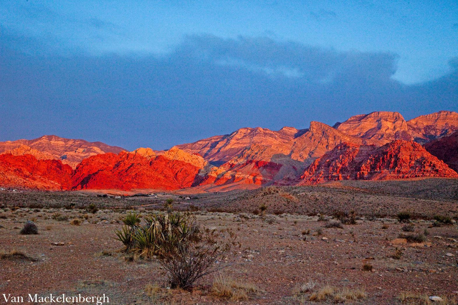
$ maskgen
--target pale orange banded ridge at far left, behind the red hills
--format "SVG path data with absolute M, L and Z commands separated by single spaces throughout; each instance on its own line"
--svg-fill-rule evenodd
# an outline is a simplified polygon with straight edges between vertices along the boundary
M 55 135 L 44 135 L 33 140 L 0 142 L 0 154 L 31 154 L 38 159 L 57 159 L 75 168 L 84 158 L 107 152 L 119 153 L 121 147 L 110 146 L 102 142 L 88 142 L 81 139 L 65 139 Z

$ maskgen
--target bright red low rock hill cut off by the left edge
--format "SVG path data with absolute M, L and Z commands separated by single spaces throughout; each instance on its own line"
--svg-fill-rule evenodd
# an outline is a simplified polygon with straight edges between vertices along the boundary
M 65 190 L 70 188 L 71 167 L 60 160 L 37 160 L 33 155 L 0 155 L 0 186 Z

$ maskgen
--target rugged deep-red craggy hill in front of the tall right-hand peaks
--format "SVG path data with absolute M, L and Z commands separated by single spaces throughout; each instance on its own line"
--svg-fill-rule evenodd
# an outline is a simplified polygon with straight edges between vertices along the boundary
M 457 178 L 458 174 L 416 142 L 396 140 L 379 148 L 343 143 L 316 159 L 300 184 L 413 177 Z

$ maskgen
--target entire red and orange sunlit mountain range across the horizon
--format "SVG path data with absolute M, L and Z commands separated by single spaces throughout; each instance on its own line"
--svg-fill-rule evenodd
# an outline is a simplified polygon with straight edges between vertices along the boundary
M 355 115 L 332 127 L 240 128 L 169 150 L 45 135 L 0 142 L 0 186 L 225 191 L 348 179 L 458 178 L 458 113 Z

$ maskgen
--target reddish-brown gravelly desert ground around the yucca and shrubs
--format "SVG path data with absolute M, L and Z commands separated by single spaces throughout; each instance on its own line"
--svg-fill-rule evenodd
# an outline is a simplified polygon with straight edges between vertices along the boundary
M 403 202 L 409 201 L 415 207 L 415 203 L 421 201 L 429 207 L 426 214 L 453 214 L 457 209 L 453 192 L 451 198 L 433 200 L 418 193 L 389 194 L 381 193 L 380 189 L 376 193 L 367 193 L 374 191 L 370 187 L 343 187 L 321 187 L 313 192 L 337 201 L 333 192 L 349 192 L 348 187 L 352 187 L 351 195 L 346 193 L 345 196 L 358 198 L 360 211 L 375 209 L 376 197 L 380 200 L 379 205 L 403 198 Z M 326 193 L 328 189 L 331 190 Z M 305 195 L 299 195 L 304 192 Z M 357 223 L 343 225 L 343 228 L 326 228 L 331 216 L 318 221 L 317 215 L 279 214 L 277 210 L 278 215 L 275 215 L 271 214 L 274 208 L 270 206 L 265 220 L 251 213 L 260 204 L 259 198 L 316 195 L 310 192 L 309 189 L 280 188 L 272 193 L 272 189 L 262 189 L 192 199 L 179 194 L 119 199 L 68 192 L 0 192 L 0 250 L 8 253 L 16 249 L 26 256 L 0 259 L 0 295 L 105 294 L 109 297 L 109 304 L 120 305 L 341 302 L 335 295 L 325 296 L 324 300 L 311 300 L 313 293 L 330 285 L 334 289 L 349 291 L 361 292 L 364 289 L 362 298 L 344 301 L 350 304 L 428 304 L 423 301 L 424 296 L 441 296 L 444 302 L 439 304 L 455 304 L 454 299 L 458 298 L 456 222 L 454 225 L 433 226 L 430 219 L 414 219 L 413 233 L 426 234 L 425 242 L 415 244 L 398 238 L 400 234 L 410 232 L 403 232 L 403 224 L 393 217 L 368 217 L 364 216 L 365 213 L 358 213 L 358 209 Z M 224 202 L 218 198 L 222 196 L 225 196 L 224 200 L 244 198 L 252 202 L 245 212 L 208 212 L 204 209 L 204 200 L 212 207 L 214 203 Z M 126 261 L 122 254 L 116 253 L 121 244 L 114 239 L 114 230 L 120 229 L 119 219 L 126 213 L 125 209 L 136 209 L 146 216 L 168 197 L 176 199 L 175 208 L 189 209 L 191 204 L 196 205 L 199 210 L 193 213 L 200 225 L 235 232 L 240 245 L 232 249 L 228 257 L 230 265 L 223 273 L 239 283 L 257 287 L 256 292 L 248 294 L 248 300 L 214 295 L 215 274 L 204 277 L 192 291 L 167 289 L 166 274 L 157 261 Z M 294 198 L 286 199 L 294 203 Z M 431 206 L 431 202 L 436 202 L 437 206 Z M 71 203 L 75 207 L 70 206 Z M 88 203 L 95 203 L 100 209 L 90 213 L 83 209 Z M 351 205 L 357 207 L 356 202 Z M 393 208 L 395 210 L 398 206 Z M 56 213 L 61 217 L 54 216 L 53 219 Z M 81 225 L 71 225 L 72 219 L 81 219 Z M 26 220 L 36 223 L 38 235 L 19 234 Z M 366 269 L 371 265 L 372 271 L 363 270 L 363 265 Z M 297 288 L 309 281 L 315 286 L 310 291 L 298 292 Z M 157 284 L 158 287 L 152 293 L 151 285 L 146 289 L 148 284 Z M 4 303 L 1 299 L 0 304 Z

